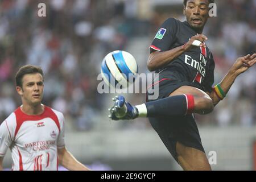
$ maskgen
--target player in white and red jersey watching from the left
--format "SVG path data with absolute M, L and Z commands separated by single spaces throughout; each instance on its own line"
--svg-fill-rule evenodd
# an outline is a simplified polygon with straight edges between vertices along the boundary
M 65 147 L 63 114 L 42 104 L 43 82 L 39 67 L 26 65 L 16 74 L 22 106 L 0 125 L 0 170 L 8 148 L 15 171 L 55 171 L 59 163 L 69 170 L 89 170 Z

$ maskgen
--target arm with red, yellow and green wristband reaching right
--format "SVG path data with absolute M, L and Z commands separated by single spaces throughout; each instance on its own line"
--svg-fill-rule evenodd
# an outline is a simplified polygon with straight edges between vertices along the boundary
M 250 67 L 256 63 L 256 53 L 253 55 L 246 55 L 239 57 L 236 62 L 230 68 L 229 72 L 222 79 L 220 84 L 214 86 L 211 93 L 208 93 L 213 100 L 214 106 L 218 104 L 229 92 L 229 89 L 233 85 L 236 78 L 242 73 L 246 72 Z

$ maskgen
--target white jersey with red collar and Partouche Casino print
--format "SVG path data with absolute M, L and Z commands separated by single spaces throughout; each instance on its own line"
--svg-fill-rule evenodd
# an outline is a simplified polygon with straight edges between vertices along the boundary
M 0 125 L 0 156 L 10 148 L 15 171 L 57 170 L 57 148 L 64 146 L 64 116 L 47 106 L 40 115 L 19 107 Z

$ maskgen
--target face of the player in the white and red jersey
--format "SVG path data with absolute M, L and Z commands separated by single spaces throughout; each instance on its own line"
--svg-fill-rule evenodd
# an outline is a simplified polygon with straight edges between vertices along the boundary
M 40 73 L 24 75 L 22 88 L 16 87 L 17 92 L 22 96 L 23 104 L 38 105 L 43 99 L 43 76 Z

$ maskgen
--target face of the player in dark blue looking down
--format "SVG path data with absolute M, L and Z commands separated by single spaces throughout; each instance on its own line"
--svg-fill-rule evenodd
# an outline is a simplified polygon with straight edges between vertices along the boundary
M 203 31 L 204 25 L 209 18 L 208 0 L 188 0 L 184 7 L 187 22 L 197 31 Z

